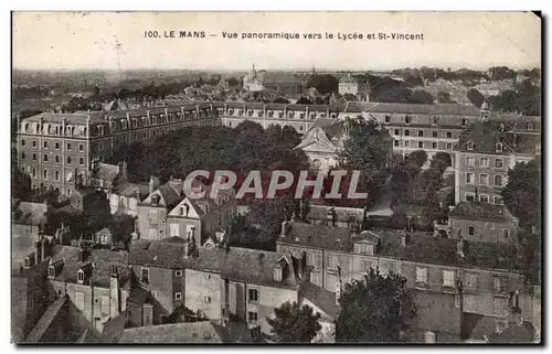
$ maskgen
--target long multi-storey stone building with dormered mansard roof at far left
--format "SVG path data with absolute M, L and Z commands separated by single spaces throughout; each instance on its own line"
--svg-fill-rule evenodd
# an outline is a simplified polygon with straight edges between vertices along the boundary
M 106 160 L 120 146 L 148 143 L 185 126 L 217 125 L 213 104 L 89 114 L 52 114 L 18 125 L 18 168 L 32 187 L 53 187 L 71 196 L 92 183 L 93 162 Z

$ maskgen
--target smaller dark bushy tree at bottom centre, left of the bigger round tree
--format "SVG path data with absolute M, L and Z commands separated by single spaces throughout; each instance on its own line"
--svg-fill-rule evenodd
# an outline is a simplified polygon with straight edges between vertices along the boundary
M 304 304 L 289 301 L 274 309 L 275 318 L 267 318 L 266 321 L 272 325 L 272 331 L 276 340 L 280 343 L 310 343 L 320 331 L 318 323 L 320 313 Z

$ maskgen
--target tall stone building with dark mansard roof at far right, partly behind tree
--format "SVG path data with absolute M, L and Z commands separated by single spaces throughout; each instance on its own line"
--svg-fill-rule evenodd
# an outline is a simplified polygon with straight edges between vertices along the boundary
M 540 118 L 499 116 L 473 125 L 455 151 L 455 200 L 502 204 L 508 170 L 541 155 Z

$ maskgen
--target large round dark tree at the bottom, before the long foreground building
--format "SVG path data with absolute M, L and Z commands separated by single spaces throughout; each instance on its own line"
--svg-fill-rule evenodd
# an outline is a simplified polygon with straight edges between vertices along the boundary
M 406 278 L 373 269 L 343 286 L 339 304 L 337 342 L 399 342 L 416 317 Z

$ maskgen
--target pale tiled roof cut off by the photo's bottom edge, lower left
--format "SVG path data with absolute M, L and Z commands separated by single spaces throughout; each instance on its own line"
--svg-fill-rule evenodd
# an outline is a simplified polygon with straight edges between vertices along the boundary
M 223 343 L 220 333 L 209 321 L 160 324 L 126 329 L 118 339 L 119 343 Z

